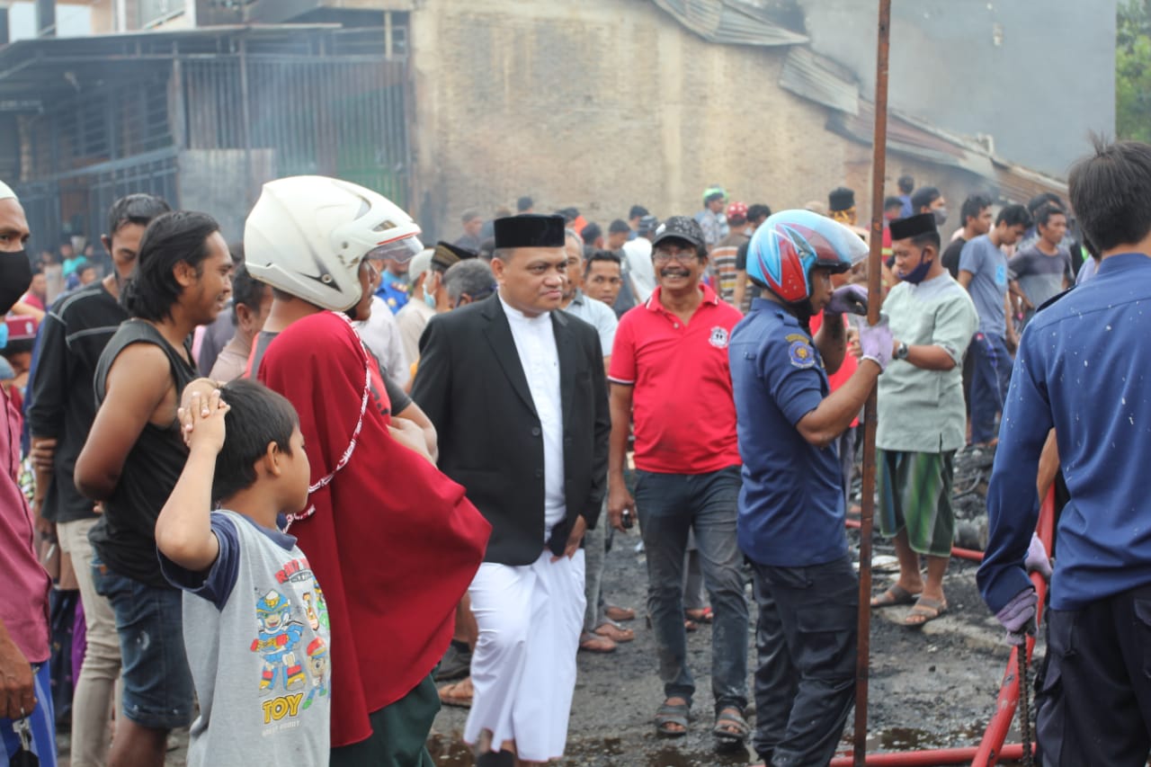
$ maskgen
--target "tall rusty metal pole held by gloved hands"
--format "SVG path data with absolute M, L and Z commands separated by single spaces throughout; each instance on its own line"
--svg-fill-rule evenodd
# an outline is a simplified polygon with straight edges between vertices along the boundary
M 879 321 L 881 250 L 883 248 L 883 182 L 887 160 L 887 53 L 891 44 L 891 0 L 879 0 L 879 39 L 875 69 L 875 138 L 871 161 L 871 252 L 868 255 L 868 325 Z M 860 613 L 855 658 L 855 766 L 867 762 L 867 693 L 871 655 L 871 523 L 875 516 L 875 388 L 863 408 L 863 496 L 860 499 Z

